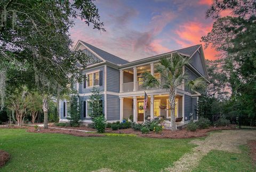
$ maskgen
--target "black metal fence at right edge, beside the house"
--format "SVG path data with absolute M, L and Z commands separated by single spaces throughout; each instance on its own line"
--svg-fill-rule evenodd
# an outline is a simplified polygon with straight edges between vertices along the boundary
M 249 118 L 244 115 L 215 114 L 211 121 L 216 127 L 256 129 L 256 118 Z

